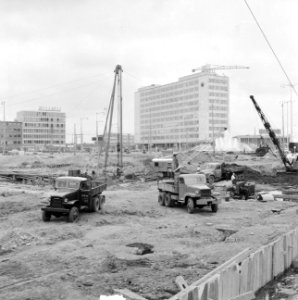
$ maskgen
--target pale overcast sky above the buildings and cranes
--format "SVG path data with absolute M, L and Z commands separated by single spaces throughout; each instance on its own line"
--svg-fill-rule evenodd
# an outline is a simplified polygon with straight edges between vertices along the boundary
M 298 1 L 247 2 L 298 83 Z M 281 87 L 286 77 L 242 0 L 0 0 L 0 53 L 6 120 L 20 110 L 61 107 L 68 141 L 81 118 L 84 140 L 95 135 L 96 112 L 108 106 L 117 64 L 125 132 L 134 132 L 139 87 L 176 81 L 204 64 L 250 67 L 218 71 L 230 77 L 232 134 L 263 128 L 249 95 L 279 128 L 281 101 L 290 99 L 289 88 Z

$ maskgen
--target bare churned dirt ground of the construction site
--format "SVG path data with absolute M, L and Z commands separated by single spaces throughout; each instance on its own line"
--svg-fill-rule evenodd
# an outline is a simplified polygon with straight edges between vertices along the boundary
M 58 154 L 1 157 L 0 164 L 5 170 L 42 173 L 50 172 L 45 167 L 50 160 L 69 161 L 70 168 L 96 166 L 96 157 Z M 297 188 L 294 175 L 268 176 L 278 165 L 274 157 L 238 160 L 263 170 L 249 173 L 258 191 Z M 125 166 L 145 174 L 148 161 L 146 155 L 131 154 Z M 34 162 L 39 167 L 33 168 Z M 51 193 L 49 185 L 0 182 L 0 299 L 95 300 L 121 288 L 150 300 L 167 299 L 178 292 L 176 276 L 190 284 L 244 248 L 256 249 L 297 226 L 296 203 L 225 201 L 228 184 L 215 185 L 222 199 L 217 213 L 204 208 L 188 214 L 184 207 L 158 205 L 156 181 L 114 181 L 104 192 L 101 212 L 82 213 L 78 223 L 62 217 L 44 223 L 40 208 Z M 140 255 L 144 244 L 153 247 L 152 253 Z

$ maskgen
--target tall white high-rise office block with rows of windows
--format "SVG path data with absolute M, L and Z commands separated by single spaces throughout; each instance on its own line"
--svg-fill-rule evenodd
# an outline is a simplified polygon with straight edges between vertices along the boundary
M 229 127 L 229 78 L 203 71 L 135 93 L 135 143 L 173 147 L 212 142 Z

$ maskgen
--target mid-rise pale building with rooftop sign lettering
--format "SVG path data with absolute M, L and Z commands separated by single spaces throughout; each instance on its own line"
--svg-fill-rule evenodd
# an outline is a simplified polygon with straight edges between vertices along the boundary
M 24 149 L 44 149 L 65 145 L 65 113 L 59 108 L 40 107 L 38 111 L 20 111 Z

